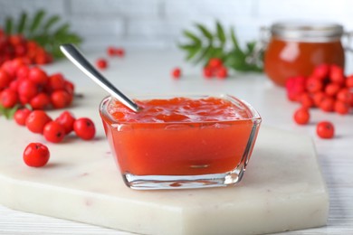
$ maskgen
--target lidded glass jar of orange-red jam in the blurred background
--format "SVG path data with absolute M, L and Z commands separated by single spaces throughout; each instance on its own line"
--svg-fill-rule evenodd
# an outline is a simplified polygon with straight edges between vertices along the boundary
M 279 86 L 290 77 L 309 76 L 322 63 L 344 67 L 344 31 L 340 24 L 276 23 L 270 33 L 264 71 Z

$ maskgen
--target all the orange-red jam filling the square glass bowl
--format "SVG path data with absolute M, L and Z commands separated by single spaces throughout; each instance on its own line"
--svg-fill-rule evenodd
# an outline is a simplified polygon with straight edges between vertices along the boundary
M 217 174 L 241 162 L 253 127 L 242 103 L 220 98 L 136 102 L 142 108 L 138 113 L 111 101 L 106 107 L 111 117 L 101 115 L 122 174 Z

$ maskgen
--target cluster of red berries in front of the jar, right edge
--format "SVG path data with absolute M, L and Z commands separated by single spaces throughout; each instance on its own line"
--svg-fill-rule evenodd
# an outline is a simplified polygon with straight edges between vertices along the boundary
M 334 64 L 317 66 L 309 77 L 290 78 L 286 89 L 288 99 L 301 104 L 293 115 L 300 125 L 309 123 L 310 108 L 347 115 L 353 107 L 353 75 L 346 77 L 343 69 Z M 319 122 L 316 131 L 321 138 L 334 136 L 334 126 L 329 121 Z

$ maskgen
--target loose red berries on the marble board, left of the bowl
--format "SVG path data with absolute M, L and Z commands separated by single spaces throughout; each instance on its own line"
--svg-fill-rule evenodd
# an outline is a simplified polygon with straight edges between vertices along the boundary
M 91 140 L 96 133 L 94 123 L 90 118 L 74 118 L 69 111 L 52 120 L 43 110 L 21 108 L 14 113 L 14 121 L 27 127 L 31 132 L 41 134 L 48 142 L 60 143 L 72 131 L 83 140 Z M 41 143 L 31 143 L 24 149 L 24 163 L 40 167 L 49 160 L 48 147 Z

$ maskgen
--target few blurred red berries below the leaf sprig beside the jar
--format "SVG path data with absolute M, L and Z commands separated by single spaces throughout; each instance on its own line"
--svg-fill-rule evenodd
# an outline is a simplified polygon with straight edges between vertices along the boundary
M 219 58 L 211 58 L 203 69 L 205 79 L 216 77 L 217 79 L 224 80 L 228 77 L 228 70 L 224 67 L 224 63 Z M 181 77 L 181 69 L 176 67 L 172 70 L 171 76 L 173 79 L 178 80 Z

